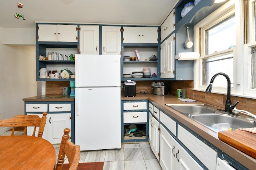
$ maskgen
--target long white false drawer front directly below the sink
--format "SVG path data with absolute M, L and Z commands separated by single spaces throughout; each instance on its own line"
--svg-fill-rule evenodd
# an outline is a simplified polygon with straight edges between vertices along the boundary
M 215 170 L 218 153 L 178 125 L 178 139 L 208 168 Z

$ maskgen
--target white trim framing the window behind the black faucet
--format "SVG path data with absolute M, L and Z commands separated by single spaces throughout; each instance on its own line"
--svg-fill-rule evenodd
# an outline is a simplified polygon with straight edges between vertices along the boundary
M 234 82 L 240 85 L 234 85 L 234 88 L 231 89 L 232 96 L 242 96 L 244 97 L 244 80 L 242 77 L 244 77 L 244 52 L 243 46 L 244 46 L 244 31 L 243 31 L 243 9 L 242 9 L 242 2 L 237 0 L 229 0 L 226 4 L 221 6 L 219 9 L 214 11 L 212 13 L 212 17 L 206 17 L 204 20 L 200 21 L 198 24 L 194 25 L 194 51 L 199 52 L 199 28 L 200 27 L 206 27 L 209 23 L 212 23 L 216 16 L 224 16 L 226 13 L 234 12 L 232 11 L 232 8 L 235 8 L 236 13 L 236 35 L 241 35 L 236 37 L 236 48 L 234 52 Z M 205 49 L 202 49 L 204 51 Z M 201 55 L 204 54 L 201 51 Z M 223 51 L 220 51 L 221 53 Z M 202 56 L 203 57 L 203 56 Z M 201 85 L 201 68 L 202 68 L 202 60 L 201 57 L 198 60 L 194 61 L 194 89 L 198 91 L 205 91 L 207 86 Z M 218 94 L 226 94 L 227 88 L 212 88 L 212 92 L 218 93 Z

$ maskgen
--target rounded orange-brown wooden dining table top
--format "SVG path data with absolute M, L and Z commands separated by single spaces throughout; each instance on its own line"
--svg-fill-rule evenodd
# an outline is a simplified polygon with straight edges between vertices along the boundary
M 0 136 L 1 170 L 53 170 L 54 146 L 32 136 Z

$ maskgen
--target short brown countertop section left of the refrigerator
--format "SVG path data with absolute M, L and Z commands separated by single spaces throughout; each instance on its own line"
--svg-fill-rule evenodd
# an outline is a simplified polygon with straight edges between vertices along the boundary
M 22 99 L 24 102 L 74 102 L 75 97 L 47 94 Z

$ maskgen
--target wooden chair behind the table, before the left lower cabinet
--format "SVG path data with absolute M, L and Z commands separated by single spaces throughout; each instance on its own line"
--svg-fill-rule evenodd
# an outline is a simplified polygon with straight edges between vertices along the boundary
M 26 135 L 27 127 L 34 127 L 32 136 L 35 136 L 36 127 L 39 127 L 37 136 L 42 138 L 46 122 L 46 115 L 46 112 L 43 113 L 42 118 L 40 118 L 38 115 L 16 115 L 10 119 L 0 120 L 0 127 L 12 127 L 11 135 L 14 135 L 15 127 L 24 127 L 23 135 Z

